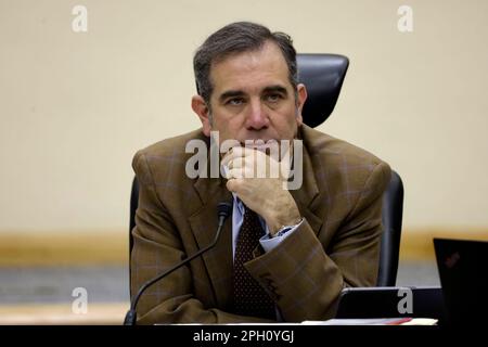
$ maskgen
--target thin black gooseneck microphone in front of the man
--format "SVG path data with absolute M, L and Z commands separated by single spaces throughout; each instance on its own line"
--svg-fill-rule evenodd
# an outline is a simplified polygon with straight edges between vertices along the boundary
M 159 281 L 159 280 L 164 279 L 165 277 L 167 277 L 168 274 L 170 274 L 172 271 L 181 268 L 187 262 L 190 262 L 197 256 L 200 256 L 200 255 L 204 254 L 205 252 L 207 252 L 208 249 L 213 248 L 217 244 L 217 241 L 219 240 L 219 236 L 220 236 L 220 232 L 222 231 L 223 222 L 226 221 L 227 217 L 229 217 L 231 210 L 232 210 L 231 203 L 219 203 L 217 205 L 217 217 L 219 219 L 219 226 L 217 227 L 217 232 L 215 234 L 214 241 L 208 246 L 200 249 L 197 253 L 195 253 L 191 257 L 183 259 L 182 261 L 180 261 L 172 268 L 166 270 L 165 272 L 160 273 L 159 275 L 155 277 L 154 279 L 145 282 L 139 290 L 138 294 L 133 297 L 133 300 L 131 300 L 130 309 L 129 309 L 129 311 L 127 311 L 126 318 L 124 320 L 124 325 L 136 325 L 137 316 L 138 316 L 136 308 L 138 306 L 139 298 L 145 292 L 145 290 L 147 290 L 151 285 L 153 285 L 157 281 Z

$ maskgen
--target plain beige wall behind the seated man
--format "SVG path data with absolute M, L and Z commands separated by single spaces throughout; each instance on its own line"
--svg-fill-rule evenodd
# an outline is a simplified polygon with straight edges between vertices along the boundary
M 72 9 L 88 8 L 88 33 Z M 413 33 L 397 9 L 413 9 Z M 191 60 L 251 20 L 350 59 L 321 130 L 406 184 L 406 228 L 488 229 L 487 1 L 0 0 L 0 232 L 117 230 L 133 153 L 198 126 Z

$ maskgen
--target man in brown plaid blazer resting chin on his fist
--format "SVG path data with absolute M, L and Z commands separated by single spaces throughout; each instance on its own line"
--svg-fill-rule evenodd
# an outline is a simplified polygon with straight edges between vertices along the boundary
M 194 68 L 198 95 L 192 108 L 202 129 L 153 144 L 133 159 L 140 195 L 132 293 L 210 244 L 218 203 L 233 202 L 232 218 L 215 248 L 143 294 L 138 323 L 332 318 L 345 286 L 375 284 L 389 167 L 301 123 L 307 91 L 297 83 L 288 36 L 253 23 L 230 24 L 197 50 Z M 240 144 L 222 154 L 228 176 L 205 175 L 207 168 L 198 168 L 200 177 L 189 175 L 188 143 L 208 144 L 216 133 L 217 144 Z M 248 175 L 258 163 L 288 163 L 246 141 L 294 139 L 303 141 L 303 151 L 290 151 L 285 172 L 298 172 L 299 157 L 298 189 L 283 189 L 286 175 Z

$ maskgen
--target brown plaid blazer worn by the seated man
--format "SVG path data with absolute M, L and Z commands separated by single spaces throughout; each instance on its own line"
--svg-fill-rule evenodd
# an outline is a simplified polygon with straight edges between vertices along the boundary
M 347 142 L 307 126 L 304 182 L 291 191 L 305 221 L 269 253 L 246 264 L 288 322 L 325 320 L 345 286 L 374 285 L 381 208 L 389 182 L 387 164 Z M 223 179 L 185 175 L 191 139 L 201 130 L 139 151 L 133 169 L 140 184 L 131 254 L 131 290 L 208 245 L 217 229 L 217 204 L 232 201 Z M 139 324 L 265 321 L 230 312 L 232 219 L 216 247 L 150 287 L 138 306 Z

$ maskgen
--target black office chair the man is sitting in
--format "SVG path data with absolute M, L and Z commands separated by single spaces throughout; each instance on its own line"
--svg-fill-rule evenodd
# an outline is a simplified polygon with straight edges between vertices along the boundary
M 298 79 L 307 86 L 308 99 L 304 105 L 304 123 L 317 127 L 329 118 L 335 107 L 346 76 L 349 60 L 336 54 L 297 54 Z M 136 226 L 134 215 L 138 207 L 139 187 L 132 181 L 130 194 L 129 247 L 132 250 L 132 234 Z M 400 248 L 401 218 L 403 210 L 403 185 L 397 172 L 383 196 L 383 226 L 380 271 L 377 286 L 394 286 L 397 279 L 398 255 Z

